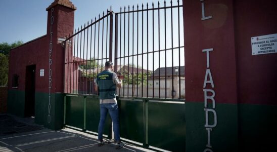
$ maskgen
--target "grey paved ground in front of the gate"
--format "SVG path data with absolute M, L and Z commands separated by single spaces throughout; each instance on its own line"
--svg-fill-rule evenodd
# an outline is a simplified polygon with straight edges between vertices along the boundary
M 94 135 L 68 128 L 54 131 L 35 125 L 30 119 L 20 119 L 10 115 L 0 115 L 0 122 L 0 152 L 152 151 L 127 144 L 121 149 L 116 149 L 114 143 L 99 147 L 97 137 Z

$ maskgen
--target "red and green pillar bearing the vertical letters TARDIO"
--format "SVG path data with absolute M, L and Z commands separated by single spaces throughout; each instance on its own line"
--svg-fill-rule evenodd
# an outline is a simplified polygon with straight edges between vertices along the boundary
M 233 0 L 183 1 L 186 151 L 237 151 Z

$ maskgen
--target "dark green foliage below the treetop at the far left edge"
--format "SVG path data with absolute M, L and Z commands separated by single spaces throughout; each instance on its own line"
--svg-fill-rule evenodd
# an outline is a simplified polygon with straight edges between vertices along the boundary
M 0 53 L 0 86 L 8 84 L 9 60 L 8 57 Z

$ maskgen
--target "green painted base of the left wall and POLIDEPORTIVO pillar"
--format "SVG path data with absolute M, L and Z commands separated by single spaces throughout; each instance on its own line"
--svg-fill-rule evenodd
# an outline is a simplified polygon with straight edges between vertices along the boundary
M 50 122 L 48 122 L 49 93 L 35 93 L 35 123 L 58 130 L 63 128 L 64 94 L 52 93 L 50 102 Z M 25 92 L 8 91 L 8 113 L 25 117 Z

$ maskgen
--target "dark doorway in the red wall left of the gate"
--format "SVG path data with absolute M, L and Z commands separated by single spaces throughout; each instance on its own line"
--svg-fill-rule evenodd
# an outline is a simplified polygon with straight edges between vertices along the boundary
M 35 112 L 35 65 L 26 66 L 25 117 L 34 117 Z

